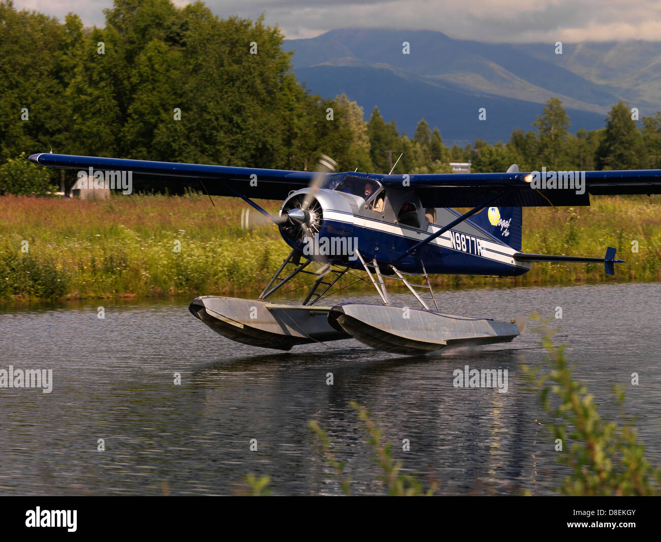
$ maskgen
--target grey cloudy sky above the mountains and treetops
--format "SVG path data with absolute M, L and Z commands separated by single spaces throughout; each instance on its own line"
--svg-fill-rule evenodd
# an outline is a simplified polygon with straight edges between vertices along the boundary
M 184 0 L 175 0 L 185 5 Z M 288 38 L 311 38 L 332 28 L 440 30 L 458 39 L 488 42 L 661 40 L 659 0 L 206 0 L 219 17 L 277 24 Z M 103 26 L 112 0 L 15 0 L 63 19 L 77 13 Z

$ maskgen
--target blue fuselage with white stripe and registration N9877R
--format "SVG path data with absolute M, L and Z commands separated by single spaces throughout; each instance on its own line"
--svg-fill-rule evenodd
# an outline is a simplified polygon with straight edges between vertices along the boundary
M 362 269 L 355 252 L 358 249 L 364 261 L 376 261 L 381 272 L 389 273 L 389 265 L 408 249 L 460 216 L 452 208 L 422 208 L 414 191 L 389 188 L 386 193 L 379 183 L 371 183 L 375 189 L 369 195 L 357 195 L 356 190 L 348 193 L 342 191 L 342 186 L 313 191 L 312 227 L 297 237 L 292 228 L 281 226 L 282 237 L 310 259 Z M 292 193 L 280 214 L 288 212 L 311 190 Z M 301 237 L 305 237 L 304 242 Z M 398 261 L 396 267 L 409 273 L 522 275 L 531 264 L 515 261 L 513 255 L 517 252 L 465 220 Z

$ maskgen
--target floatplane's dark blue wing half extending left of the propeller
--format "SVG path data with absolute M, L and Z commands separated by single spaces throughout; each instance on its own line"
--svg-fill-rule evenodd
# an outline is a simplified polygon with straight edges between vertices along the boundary
M 132 171 L 134 179 L 145 177 L 178 177 L 182 181 L 202 181 L 211 195 L 235 196 L 233 190 L 251 198 L 286 199 L 290 191 L 310 184 L 314 171 L 288 171 L 286 169 L 258 169 L 225 165 L 157 162 L 122 158 L 98 158 L 67 154 L 33 154 L 30 161 L 78 171 Z M 256 181 L 251 183 L 251 181 Z

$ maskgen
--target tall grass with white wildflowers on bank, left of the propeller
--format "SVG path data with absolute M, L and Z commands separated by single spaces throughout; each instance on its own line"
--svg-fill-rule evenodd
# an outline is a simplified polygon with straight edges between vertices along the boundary
M 241 230 L 235 201 L 215 203 L 195 194 L 0 198 L 0 297 L 256 291 L 282 263 L 286 246 L 276 228 Z M 58 281 L 59 289 L 48 287 Z

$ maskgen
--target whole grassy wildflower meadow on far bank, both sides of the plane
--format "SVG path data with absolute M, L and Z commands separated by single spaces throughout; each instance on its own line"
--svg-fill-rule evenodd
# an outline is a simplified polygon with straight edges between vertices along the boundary
M 536 263 L 522 277 L 441 275 L 434 278 L 436 285 L 660 280 L 661 197 L 592 201 L 590 207 L 558 212 L 526 208 L 523 248 L 600 257 L 606 246 L 614 246 L 627 261 L 616 267 L 614 279 L 604 275 L 600 263 Z M 108 201 L 0 197 L 0 300 L 255 296 L 282 263 L 288 246 L 275 226 L 241 230 L 241 210 L 247 205 L 239 199 L 214 202 L 212 206 L 200 194 L 116 195 Z M 279 206 L 272 201 L 260 204 L 271 212 Z M 174 250 L 177 241 L 180 252 Z M 639 244 L 637 253 L 631 251 L 633 241 Z M 348 277 L 342 285 L 355 280 Z

